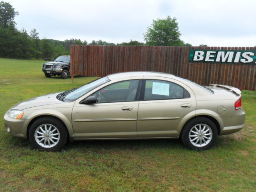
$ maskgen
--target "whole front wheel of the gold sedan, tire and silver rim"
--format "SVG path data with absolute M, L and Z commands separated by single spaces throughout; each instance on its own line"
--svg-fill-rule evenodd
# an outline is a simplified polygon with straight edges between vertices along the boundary
M 33 148 L 45 151 L 60 150 L 67 141 L 67 130 L 55 118 L 40 118 L 29 130 L 29 140 Z

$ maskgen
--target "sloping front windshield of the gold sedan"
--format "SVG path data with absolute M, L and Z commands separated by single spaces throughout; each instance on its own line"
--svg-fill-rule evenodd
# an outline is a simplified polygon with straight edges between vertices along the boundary
M 91 90 L 94 90 L 95 88 L 97 88 L 98 86 L 101 86 L 103 84 L 105 84 L 106 82 L 109 82 L 110 80 L 108 79 L 108 77 L 103 77 L 97 80 L 94 80 L 78 89 L 73 90 L 72 92 L 69 92 L 65 98 L 64 98 L 64 102 L 72 102 L 74 100 L 77 100 L 78 98 L 80 98 L 81 96 L 83 96 L 84 94 L 90 92 Z

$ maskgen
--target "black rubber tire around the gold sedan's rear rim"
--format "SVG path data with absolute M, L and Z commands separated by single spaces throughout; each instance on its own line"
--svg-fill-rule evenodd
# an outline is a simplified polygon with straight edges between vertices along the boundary
M 212 132 L 210 132 L 210 130 L 209 130 L 206 134 L 212 134 L 211 139 L 204 138 L 204 136 L 202 136 L 202 134 L 198 134 L 198 137 L 197 137 L 196 134 L 194 134 L 193 132 L 191 132 L 192 137 L 189 136 L 190 130 L 195 130 L 194 126 L 197 126 L 196 128 L 198 129 L 199 124 L 206 125 L 206 128 L 207 128 L 206 130 L 208 130 L 208 128 L 210 128 L 210 130 Z M 201 125 L 201 128 L 204 127 L 203 125 Z M 182 139 L 182 142 L 184 143 L 184 145 L 189 149 L 207 150 L 207 149 L 212 148 L 212 146 L 214 146 L 217 136 L 218 136 L 218 130 L 217 130 L 214 122 L 212 122 L 210 119 L 205 118 L 205 117 L 198 117 L 198 118 L 194 118 L 194 119 L 190 120 L 188 123 L 186 123 L 186 125 L 182 129 L 181 139 Z M 199 138 L 199 141 L 198 141 L 199 144 L 195 144 L 195 142 L 197 141 L 196 137 Z M 206 137 L 210 138 L 209 135 L 207 135 Z M 204 138 L 204 140 L 206 141 L 204 143 L 204 141 L 201 139 L 202 143 L 203 143 L 202 146 L 198 146 L 198 145 L 200 145 L 200 138 Z M 195 139 L 195 141 L 192 141 L 193 139 Z

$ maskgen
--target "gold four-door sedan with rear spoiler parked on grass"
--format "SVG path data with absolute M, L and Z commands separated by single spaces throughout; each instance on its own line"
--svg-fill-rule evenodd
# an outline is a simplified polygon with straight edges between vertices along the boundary
M 60 150 L 67 139 L 181 138 L 195 150 L 244 127 L 241 92 L 172 74 L 111 74 L 80 88 L 31 98 L 4 115 L 6 130 L 33 148 Z

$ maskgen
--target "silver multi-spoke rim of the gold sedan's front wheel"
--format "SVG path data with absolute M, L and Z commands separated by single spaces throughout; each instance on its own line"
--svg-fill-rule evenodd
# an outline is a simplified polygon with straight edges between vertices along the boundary
M 44 148 L 51 148 L 60 141 L 59 130 L 51 124 L 42 124 L 35 131 L 35 140 L 38 145 Z

